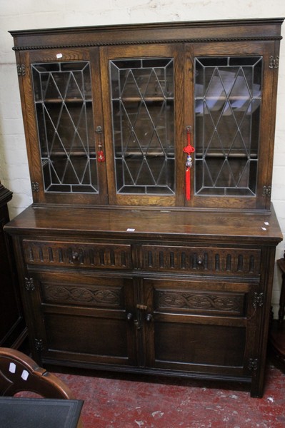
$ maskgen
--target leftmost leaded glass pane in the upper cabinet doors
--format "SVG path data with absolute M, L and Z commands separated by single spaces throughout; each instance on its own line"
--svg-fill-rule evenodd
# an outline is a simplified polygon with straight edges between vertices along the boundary
M 31 64 L 46 192 L 98 193 L 89 63 Z

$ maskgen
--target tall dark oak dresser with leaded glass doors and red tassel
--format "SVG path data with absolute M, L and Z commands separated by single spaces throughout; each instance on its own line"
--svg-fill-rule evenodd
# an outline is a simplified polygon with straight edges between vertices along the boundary
M 11 31 L 41 364 L 264 388 L 283 19 Z

